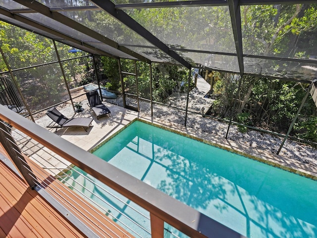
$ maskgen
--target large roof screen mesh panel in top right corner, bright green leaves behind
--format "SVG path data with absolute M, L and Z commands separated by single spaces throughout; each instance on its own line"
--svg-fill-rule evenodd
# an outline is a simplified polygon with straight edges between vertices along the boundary
M 252 5 L 240 9 L 244 54 L 316 57 L 313 4 Z

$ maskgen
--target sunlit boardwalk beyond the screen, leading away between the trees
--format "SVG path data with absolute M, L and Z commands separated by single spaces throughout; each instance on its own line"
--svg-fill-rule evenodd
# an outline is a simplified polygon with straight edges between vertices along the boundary
M 189 112 L 202 114 L 202 108 L 204 107 L 206 113 L 206 111 L 211 107 L 211 104 L 214 101 L 210 98 L 204 98 L 204 96 L 209 92 L 209 90 L 210 84 L 206 82 L 206 80 L 202 76 L 198 75 L 197 86 L 189 92 Z M 167 98 L 167 100 L 168 105 L 185 110 L 187 103 L 187 93 L 174 92 Z

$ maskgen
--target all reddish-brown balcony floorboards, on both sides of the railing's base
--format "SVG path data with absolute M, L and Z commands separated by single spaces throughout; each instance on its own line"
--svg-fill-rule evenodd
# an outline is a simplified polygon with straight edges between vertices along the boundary
M 0 144 L 0 238 L 83 238 L 86 237 L 72 225 L 36 190 L 32 190 L 15 172 L 4 164 L 7 157 Z M 4 160 L 3 160 L 4 159 Z M 44 173 L 44 170 L 25 157 L 32 170 L 38 171 L 37 178 L 47 177 L 46 189 L 60 196 L 61 204 L 73 207 L 71 213 L 82 214 L 77 218 L 99 237 L 133 238 L 131 234 L 115 224 L 104 213 L 92 208 L 79 195 L 72 192 L 58 179 Z M 9 159 L 8 159 L 9 160 Z M 59 193 L 63 194 L 61 196 Z

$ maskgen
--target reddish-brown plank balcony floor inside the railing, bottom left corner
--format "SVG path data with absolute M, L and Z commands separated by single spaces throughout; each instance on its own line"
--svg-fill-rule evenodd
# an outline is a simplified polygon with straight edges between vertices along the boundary
M 0 162 L 0 237 L 85 237 Z

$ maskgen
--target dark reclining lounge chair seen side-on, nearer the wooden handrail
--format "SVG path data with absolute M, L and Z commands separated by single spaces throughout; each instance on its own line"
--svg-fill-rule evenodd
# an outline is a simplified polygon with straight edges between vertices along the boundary
M 51 122 L 47 127 L 50 128 L 62 128 L 69 126 L 80 126 L 83 127 L 86 131 L 93 121 L 92 118 L 71 118 L 68 119 L 64 115 L 62 115 L 55 107 L 51 108 L 46 112 L 53 122 Z M 87 129 L 86 129 L 87 128 Z

